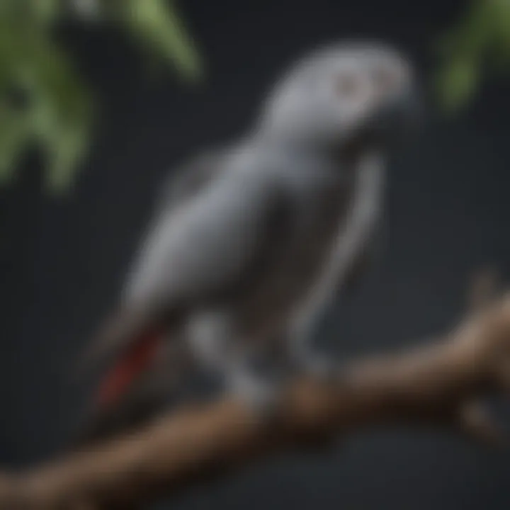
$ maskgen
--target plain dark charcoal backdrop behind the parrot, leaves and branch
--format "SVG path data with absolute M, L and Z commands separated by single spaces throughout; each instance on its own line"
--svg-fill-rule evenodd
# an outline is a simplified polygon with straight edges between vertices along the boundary
M 122 35 L 62 34 L 101 103 L 96 146 L 75 193 L 40 193 L 29 159 L 1 191 L 0 463 L 25 465 L 61 448 L 86 388 L 71 361 L 115 299 L 166 172 L 197 147 L 250 123 L 280 69 L 351 36 L 382 38 L 427 74 L 432 45 L 464 1 L 181 2 L 203 47 L 207 80 L 147 77 Z M 453 120 L 429 111 L 420 139 L 392 163 L 378 263 L 322 339 L 345 353 L 402 346 L 448 327 L 467 279 L 485 263 L 509 272 L 508 81 L 485 84 Z M 174 508 L 505 509 L 509 453 L 427 431 L 371 431 L 331 453 L 293 455 L 188 491 Z

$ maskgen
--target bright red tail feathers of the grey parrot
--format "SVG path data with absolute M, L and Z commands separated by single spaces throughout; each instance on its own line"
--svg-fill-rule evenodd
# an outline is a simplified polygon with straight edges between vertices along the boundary
M 147 331 L 123 354 L 103 378 L 97 392 L 99 407 L 108 407 L 118 400 L 131 383 L 154 361 L 161 341 L 159 331 Z

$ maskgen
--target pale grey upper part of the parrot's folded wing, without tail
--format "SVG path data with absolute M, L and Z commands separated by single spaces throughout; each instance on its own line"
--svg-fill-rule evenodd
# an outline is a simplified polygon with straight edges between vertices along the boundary
M 232 158 L 231 167 L 208 186 L 157 218 L 125 289 L 125 304 L 188 305 L 234 285 L 249 271 L 267 248 L 265 235 L 283 191 L 273 174 L 250 163 L 243 167 L 241 158 Z

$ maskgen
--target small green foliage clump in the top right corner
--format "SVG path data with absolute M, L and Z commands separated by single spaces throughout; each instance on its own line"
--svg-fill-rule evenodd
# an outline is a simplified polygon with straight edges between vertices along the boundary
M 471 0 L 439 51 L 439 99 L 447 111 L 458 111 L 472 99 L 487 68 L 510 64 L 510 0 Z

